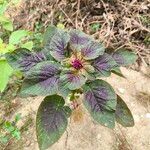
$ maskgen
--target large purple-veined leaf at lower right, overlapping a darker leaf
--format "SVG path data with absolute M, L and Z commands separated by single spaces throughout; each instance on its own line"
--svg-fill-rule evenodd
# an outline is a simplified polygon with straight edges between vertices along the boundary
M 84 104 L 98 123 L 114 128 L 116 94 L 113 88 L 103 80 L 95 80 L 83 86 Z

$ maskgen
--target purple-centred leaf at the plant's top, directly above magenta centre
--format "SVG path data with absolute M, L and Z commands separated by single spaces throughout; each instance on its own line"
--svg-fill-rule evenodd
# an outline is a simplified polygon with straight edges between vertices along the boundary
M 70 46 L 73 51 L 79 51 L 84 48 L 91 38 L 80 30 L 70 31 Z

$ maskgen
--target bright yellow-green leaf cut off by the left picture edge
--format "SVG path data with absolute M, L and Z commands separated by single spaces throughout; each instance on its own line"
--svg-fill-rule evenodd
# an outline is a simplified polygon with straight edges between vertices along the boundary
M 6 60 L 0 60 L 0 71 L 0 91 L 3 92 L 9 81 L 9 77 L 13 72 L 13 69 Z

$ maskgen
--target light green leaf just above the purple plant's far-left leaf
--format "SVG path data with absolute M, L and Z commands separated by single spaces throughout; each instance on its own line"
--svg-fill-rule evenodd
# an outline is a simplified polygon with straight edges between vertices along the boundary
M 21 40 L 28 36 L 29 32 L 26 30 L 17 30 L 14 31 L 9 38 L 9 44 L 19 44 Z

